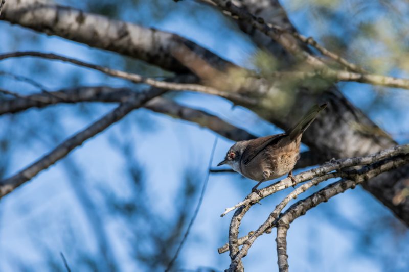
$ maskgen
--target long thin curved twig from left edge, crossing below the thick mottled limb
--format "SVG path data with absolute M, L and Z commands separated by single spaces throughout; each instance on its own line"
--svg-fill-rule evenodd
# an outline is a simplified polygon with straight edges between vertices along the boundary
M 218 95 L 224 98 L 228 98 L 229 100 L 238 101 L 238 102 L 249 104 L 249 105 L 256 104 L 256 101 L 254 99 L 242 96 L 237 93 L 223 92 L 223 91 L 216 90 L 212 87 L 203 86 L 199 84 L 158 81 L 152 78 L 145 78 L 136 73 L 128 73 L 128 72 L 124 72 L 121 70 L 110 69 L 104 66 L 90 64 L 90 63 L 83 62 L 77 59 L 68 58 L 68 57 L 60 56 L 60 55 L 53 54 L 53 53 L 41 53 L 41 52 L 35 52 L 35 51 L 12 52 L 12 53 L 0 55 L 0 60 L 7 59 L 7 58 L 15 58 L 15 57 L 27 57 L 27 56 L 70 62 L 78 66 L 87 67 L 90 69 L 94 69 L 94 70 L 103 72 L 106 75 L 109 75 L 112 77 L 126 79 L 133 83 L 145 83 L 145 84 L 148 84 L 156 88 L 174 90 L 174 91 L 189 90 L 189 91 L 194 91 L 194 92 L 202 92 L 202 93 Z

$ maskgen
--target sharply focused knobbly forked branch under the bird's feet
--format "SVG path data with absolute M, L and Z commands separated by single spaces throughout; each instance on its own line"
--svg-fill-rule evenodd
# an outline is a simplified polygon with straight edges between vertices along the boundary
M 290 192 L 270 213 L 268 218 L 260 227 L 244 237 L 238 237 L 240 223 L 246 212 L 263 198 L 274 194 L 280 190 L 286 189 L 292 185 L 290 178 L 285 178 L 275 184 L 260 189 L 259 192 L 252 192 L 237 205 L 227 208 L 221 216 L 226 215 L 235 209 L 229 229 L 229 243 L 218 249 L 219 253 L 230 251 L 231 265 L 229 271 L 242 270 L 241 259 L 247 255 L 254 241 L 263 233 L 270 232 L 272 227 L 278 226 L 277 230 L 277 252 L 280 271 L 288 270 L 286 242 L 285 237 L 289 224 L 297 217 L 304 215 L 305 212 L 316 205 L 328 201 L 330 197 L 344 192 L 347 189 L 354 188 L 357 184 L 367 181 L 381 174 L 382 172 L 396 169 L 409 163 L 409 144 L 399 145 L 391 149 L 365 157 L 348 158 L 342 160 L 330 161 L 320 167 L 302 172 L 294 176 L 297 184 L 306 182 Z M 312 194 L 305 200 L 292 205 L 283 214 L 282 210 L 299 194 L 307 191 L 312 186 L 323 181 L 341 178 L 339 181 L 331 183 L 319 192 Z M 308 182 L 307 182 L 308 181 Z M 239 245 L 243 245 L 239 249 Z

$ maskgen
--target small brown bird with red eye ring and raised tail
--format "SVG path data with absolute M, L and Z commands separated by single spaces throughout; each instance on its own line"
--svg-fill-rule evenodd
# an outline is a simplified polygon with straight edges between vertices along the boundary
M 262 182 L 285 174 L 288 174 L 295 186 L 292 170 L 300 159 L 301 138 L 326 106 L 327 103 L 312 106 L 301 120 L 285 133 L 236 142 L 217 166 L 228 164 L 244 177 L 258 181 L 252 192 L 257 191 Z

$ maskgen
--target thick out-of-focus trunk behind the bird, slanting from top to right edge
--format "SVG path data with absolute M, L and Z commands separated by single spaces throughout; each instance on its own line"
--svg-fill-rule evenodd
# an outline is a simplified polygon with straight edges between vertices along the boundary
M 265 18 L 267 23 L 279 25 L 290 32 L 297 31 L 278 0 L 241 0 L 240 4 L 256 17 Z M 266 48 L 276 57 L 281 68 L 293 69 L 293 65 L 296 65 L 294 57 L 280 44 L 257 29 L 249 27 L 247 22 L 242 20 L 238 22 L 240 28 L 260 48 Z M 294 42 L 308 50 L 299 40 L 294 39 Z M 250 108 L 285 130 L 297 121 L 309 105 L 329 102 L 325 113 L 320 115 L 303 135 L 303 142 L 310 147 L 317 161 L 365 156 L 397 144 L 391 136 L 355 108 L 336 86 L 330 85 L 323 92 L 317 92 L 316 88 L 312 87 L 293 86 L 292 91 L 294 93 L 292 103 L 286 105 L 286 114 L 277 112 L 277 108 L 271 108 L 268 112 L 261 112 L 256 107 Z M 394 197 L 405 186 L 408 177 L 409 167 L 405 166 L 362 184 L 363 188 L 377 197 L 406 225 L 409 225 L 409 202 L 399 202 L 395 205 Z

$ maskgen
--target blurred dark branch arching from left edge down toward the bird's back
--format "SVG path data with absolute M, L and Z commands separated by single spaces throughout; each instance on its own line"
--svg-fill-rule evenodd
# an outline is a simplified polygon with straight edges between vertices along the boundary
M 124 102 L 131 97 L 138 97 L 139 95 L 138 92 L 130 88 L 113 88 L 107 86 L 62 89 L 50 92 L 50 94 L 52 94 L 52 96 L 47 94 L 32 94 L 13 100 L 0 100 L 0 115 L 17 113 L 32 107 L 43 108 L 57 103 Z M 61 97 L 62 101 L 56 97 Z M 233 141 L 256 138 L 253 134 L 239 129 L 215 115 L 179 105 L 164 97 L 155 97 L 148 101 L 144 107 L 174 118 L 195 122 L 199 126 L 213 130 L 219 135 Z

